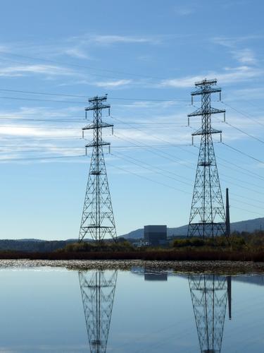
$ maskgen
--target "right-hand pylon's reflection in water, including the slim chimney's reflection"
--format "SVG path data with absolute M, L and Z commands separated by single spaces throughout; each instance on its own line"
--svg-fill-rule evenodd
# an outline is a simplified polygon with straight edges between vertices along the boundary
M 231 277 L 191 275 L 189 288 L 201 353 L 220 353 L 227 301 L 231 319 Z

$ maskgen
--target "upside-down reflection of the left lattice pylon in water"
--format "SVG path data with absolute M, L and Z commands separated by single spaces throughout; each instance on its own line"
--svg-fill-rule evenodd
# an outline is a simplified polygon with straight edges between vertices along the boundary
M 117 270 L 79 271 L 91 353 L 106 352 L 117 277 Z

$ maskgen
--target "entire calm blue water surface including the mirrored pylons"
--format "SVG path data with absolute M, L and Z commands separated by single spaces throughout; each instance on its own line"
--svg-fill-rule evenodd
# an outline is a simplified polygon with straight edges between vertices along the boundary
M 264 275 L 0 270 L 0 352 L 264 352 Z

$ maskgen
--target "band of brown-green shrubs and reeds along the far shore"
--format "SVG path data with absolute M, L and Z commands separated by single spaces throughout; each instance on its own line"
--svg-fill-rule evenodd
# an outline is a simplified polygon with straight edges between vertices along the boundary
M 30 260 L 142 260 L 264 262 L 264 232 L 232 234 L 215 239 L 174 239 L 167 247 L 134 247 L 129 241 L 83 241 L 55 251 L 0 250 L 0 259 Z

